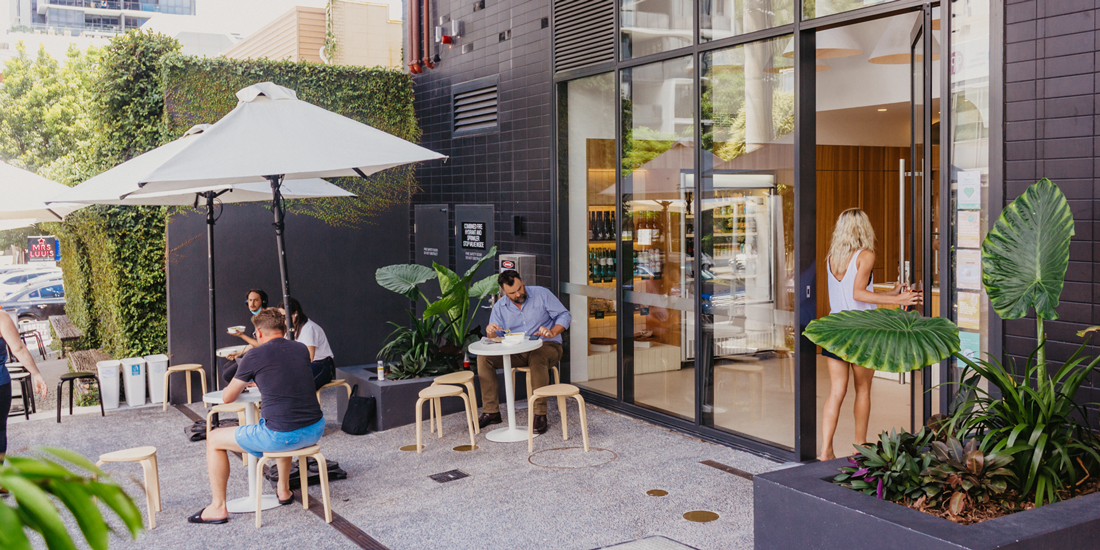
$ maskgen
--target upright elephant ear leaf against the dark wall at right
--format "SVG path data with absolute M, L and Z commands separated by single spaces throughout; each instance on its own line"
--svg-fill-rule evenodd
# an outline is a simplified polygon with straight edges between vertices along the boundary
M 1058 186 L 1043 178 L 1005 207 L 981 244 L 981 282 L 1004 319 L 1020 319 L 1035 308 L 1057 319 L 1074 215 Z

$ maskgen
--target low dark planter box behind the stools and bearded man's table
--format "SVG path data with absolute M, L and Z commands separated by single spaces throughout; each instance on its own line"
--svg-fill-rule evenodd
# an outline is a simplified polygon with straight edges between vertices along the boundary
M 497 387 L 499 388 L 501 408 L 503 410 L 503 405 L 506 403 L 504 397 L 504 370 L 497 370 L 496 377 Z M 337 369 L 337 378 L 346 380 L 348 384 L 352 387 L 359 384 L 359 395 L 363 397 L 374 397 L 377 409 L 375 411 L 374 422 L 371 425 L 371 431 L 385 431 L 415 422 L 416 402 L 419 398 L 420 391 L 430 386 L 432 381 L 436 380 L 435 377 L 429 377 L 383 381 L 380 383 L 377 377 L 377 365 L 359 365 Z M 526 399 L 526 387 L 524 374 L 520 373 L 516 376 L 516 399 Z M 474 376 L 474 389 L 477 393 L 477 405 L 481 406 L 481 383 L 477 381 L 477 376 Z M 440 403 L 442 403 L 444 415 L 462 411 L 462 399 L 446 398 L 441 399 Z M 343 415 L 345 410 L 348 410 L 348 393 L 341 391 L 337 393 L 338 421 L 343 422 Z M 424 406 L 424 416 L 425 420 L 427 420 L 427 405 Z

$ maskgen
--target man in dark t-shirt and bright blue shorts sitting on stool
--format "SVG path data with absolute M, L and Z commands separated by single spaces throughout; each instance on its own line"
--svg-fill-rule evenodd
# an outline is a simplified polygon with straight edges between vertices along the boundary
M 262 457 L 264 452 L 293 451 L 317 443 L 324 432 L 324 416 L 314 392 L 314 373 L 309 369 L 309 350 L 305 344 L 286 340 L 286 317 L 266 308 L 252 317 L 260 345 L 241 358 L 233 381 L 221 396 L 233 403 L 249 386 L 264 396 L 258 424 L 211 430 L 207 437 L 207 474 L 212 498 L 188 521 L 224 524 L 226 482 L 229 481 L 227 451 L 248 452 Z M 294 502 L 290 494 L 290 459 L 276 459 L 279 504 Z M 249 475 L 254 475 L 252 472 Z M 302 474 L 305 475 L 305 473 Z

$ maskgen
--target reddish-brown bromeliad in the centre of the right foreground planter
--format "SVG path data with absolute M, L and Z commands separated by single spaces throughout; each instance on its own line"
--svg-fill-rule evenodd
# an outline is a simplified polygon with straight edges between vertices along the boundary
M 936 464 L 921 472 L 926 496 L 917 499 L 917 508 L 946 503 L 947 510 L 958 516 L 971 502 L 987 503 L 1003 494 L 1010 479 L 1015 477 L 1012 470 L 1004 468 L 1012 462 L 1011 452 L 985 454 L 978 449 L 977 439 L 967 441 L 966 446 L 955 438 L 933 441 L 932 454 Z

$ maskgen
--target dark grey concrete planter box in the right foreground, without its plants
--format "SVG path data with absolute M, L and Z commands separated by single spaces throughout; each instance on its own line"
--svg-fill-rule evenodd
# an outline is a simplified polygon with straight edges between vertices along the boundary
M 1100 493 L 959 525 L 834 485 L 847 459 L 760 474 L 752 481 L 757 549 L 1096 548 Z

